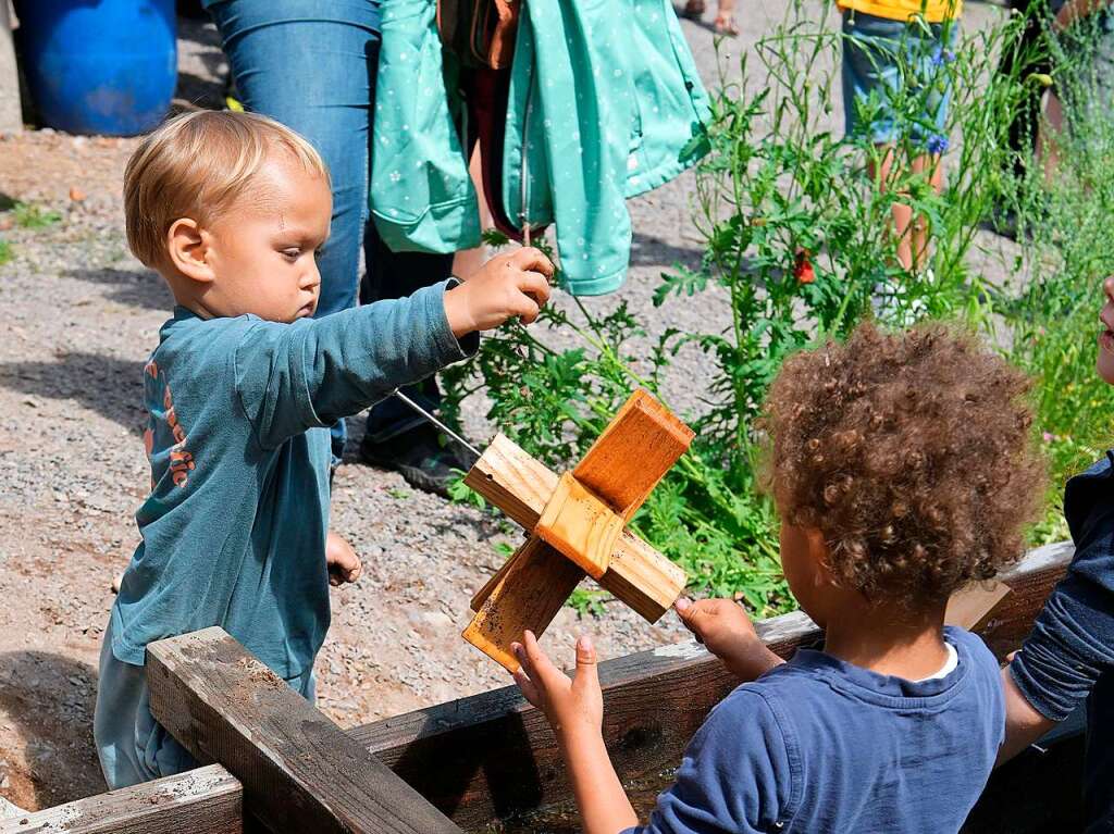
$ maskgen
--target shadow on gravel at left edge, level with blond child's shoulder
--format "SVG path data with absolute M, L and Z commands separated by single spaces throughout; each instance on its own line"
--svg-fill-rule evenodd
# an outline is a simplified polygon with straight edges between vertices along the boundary
M 48 400 L 75 400 L 139 434 L 143 363 L 95 353 L 62 353 L 56 362 L 0 363 L 0 385 Z

